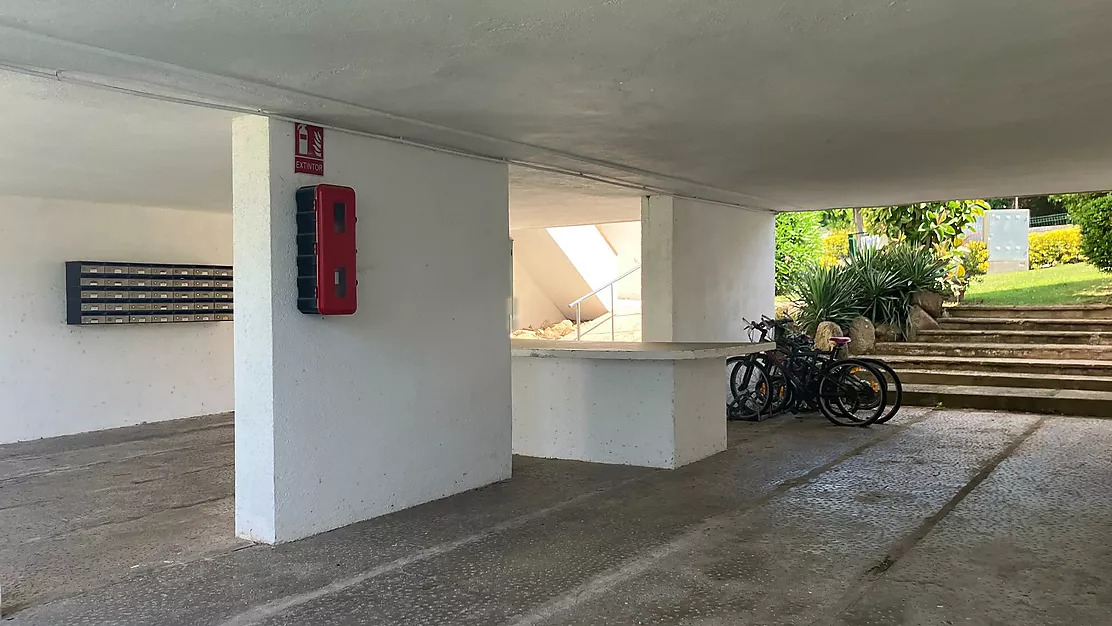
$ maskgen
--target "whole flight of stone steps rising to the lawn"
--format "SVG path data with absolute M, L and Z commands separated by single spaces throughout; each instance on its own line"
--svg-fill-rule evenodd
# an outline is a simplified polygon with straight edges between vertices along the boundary
M 909 405 L 1112 417 L 1112 306 L 959 306 L 880 342 Z

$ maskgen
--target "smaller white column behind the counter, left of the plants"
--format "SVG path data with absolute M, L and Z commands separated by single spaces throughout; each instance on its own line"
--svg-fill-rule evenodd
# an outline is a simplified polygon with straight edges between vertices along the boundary
M 645 341 L 748 340 L 775 312 L 775 215 L 671 196 L 642 199 Z

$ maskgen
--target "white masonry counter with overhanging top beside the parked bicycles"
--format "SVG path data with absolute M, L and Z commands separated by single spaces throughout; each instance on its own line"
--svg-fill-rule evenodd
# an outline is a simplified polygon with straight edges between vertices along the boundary
M 773 344 L 514 340 L 514 454 L 675 468 L 726 449 L 725 361 Z

